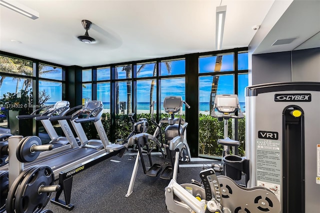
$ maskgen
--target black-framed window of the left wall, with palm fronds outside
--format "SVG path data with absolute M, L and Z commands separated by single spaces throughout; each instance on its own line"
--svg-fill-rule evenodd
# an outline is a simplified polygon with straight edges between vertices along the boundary
M 32 134 L 32 125 L 38 124 L 38 130 L 44 131 L 40 122 L 33 119 L 19 128 L 23 120 L 17 121 L 16 114 L 30 114 L 33 110 L 50 107 L 62 99 L 64 71 L 56 65 L 38 63 L 6 55 L 0 56 L 0 126 L 11 129 L 11 133 L 24 135 L 24 129 Z M 13 118 L 12 118 L 13 117 Z M 12 119 L 11 119 L 12 118 Z M 11 122 L 10 122 L 11 120 Z M 25 126 L 28 128 L 25 128 Z M 25 136 L 25 135 L 24 135 Z

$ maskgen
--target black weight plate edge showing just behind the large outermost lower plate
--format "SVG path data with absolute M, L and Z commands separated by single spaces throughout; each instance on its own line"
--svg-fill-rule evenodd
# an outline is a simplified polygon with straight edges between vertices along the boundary
M 23 178 L 27 175 L 28 171 L 31 170 L 33 167 L 29 167 L 22 171 L 16 179 L 13 181 L 11 187 L 9 188 L 8 196 L 5 200 L 5 209 L 7 213 L 14 213 L 14 201 L 15 201 L 15 191 L 17 187 L 19 186 L 20 182 L 23 180 Z

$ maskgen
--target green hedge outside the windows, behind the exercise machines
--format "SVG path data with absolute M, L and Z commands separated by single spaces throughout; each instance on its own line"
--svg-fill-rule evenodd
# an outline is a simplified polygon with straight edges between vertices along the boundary
M 161 113 L 161 118 L 162 117 L 168 117 L 168 114 Z M 182 117 L 184 118 L 184 115 L 182 115 Z M 148 120 L 147 133 L 153 134 L 156 125 L 151 122 L 151 114 L 136 114 L 136 120 L 138 120 L 139 118 L 146 118 Z M 103 113 L 101 116 L 101 121 L 108 138 L 110 138 L 110 113 Z M 130 118 L 126 114 L 116 115 L 115 125 L 115 132 L 113 132 L 114 138 L 126 138 L 132 131 L 132 124 L 130 123 Z M 93 123 L 84 123 L 82 124 L 82 126 L 88 139 L 98 138 Z M 165 127 L 165 125 L 163 127 Z M 239 141 L 241 142 L 239 146 L 239 155 L 243 156 L 245 140 L 245 118 L 238 119 L 238 133 Z M 231 138 L 230 135 L 232 135 L 232 119 L 228 120 L 228 135 Z M 220 138 L 223 138 L 223 121 L 218 121 L 216 117 L 212 117 L 210 115 L 200 114 L 199 154 L 221 156 L 223 146 L 217 144 L 217 139 Z

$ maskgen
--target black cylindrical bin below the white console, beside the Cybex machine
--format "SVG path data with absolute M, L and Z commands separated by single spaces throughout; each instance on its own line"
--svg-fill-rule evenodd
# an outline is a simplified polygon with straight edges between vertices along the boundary
M 244 158 L 238 155 L 226 155 L 223 157 L 224 173 L 233 180 L 241 179 Z

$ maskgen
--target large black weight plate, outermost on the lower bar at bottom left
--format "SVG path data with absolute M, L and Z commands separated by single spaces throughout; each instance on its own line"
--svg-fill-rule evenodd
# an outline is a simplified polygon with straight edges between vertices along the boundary
M 53 184 L 54 174 L 47 165 L 30 170 L 15 193 L 16 212 L 40 212 L 50 199 L 51 192 L 38 193 L 41 185 Z

